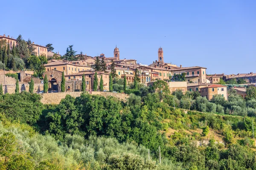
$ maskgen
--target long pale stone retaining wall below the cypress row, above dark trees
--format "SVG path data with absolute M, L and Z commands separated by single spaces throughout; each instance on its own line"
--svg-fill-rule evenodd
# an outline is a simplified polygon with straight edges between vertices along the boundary
M 41 102 L 43 104 L 52 104 L 52 105 L 58 105 L 61 102 L 61 99 L 64 99 L 65 96 L 68 94 L 73 97 L 79 97 L 81 96 L 81 91 L 77 92 L 64 92 L 64 93 L 47 93 L 47 94 L 41 94 L 42 99 Z M 124 102 L 126 102 L 126 99 L 128 98 L 127 94 L 120 94 L 120 93 L 111 93 L 111 92 L 100 92 L 100 91 L 92 91 L 92 95 L 101 95 L 101 96 L 113 96 L 116 97 Z

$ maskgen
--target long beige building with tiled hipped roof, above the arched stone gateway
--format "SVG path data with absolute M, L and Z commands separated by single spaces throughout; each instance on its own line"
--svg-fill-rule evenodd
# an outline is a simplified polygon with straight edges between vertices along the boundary
M 82 64 L 72 64 L 72 62 L 54 61 L 44 65 L 46 71 L 57 70 L 64 71 L 65 75 L 78 73 L 79 71 L 91 70 L 90 66 L 85 63 Z

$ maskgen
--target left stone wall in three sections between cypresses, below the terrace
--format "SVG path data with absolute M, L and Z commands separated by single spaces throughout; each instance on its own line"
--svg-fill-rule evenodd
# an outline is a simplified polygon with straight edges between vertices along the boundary
M 3 93 L 13 94 L 15 93 L 16 85 L 3 85 Z M 19 90 L 21 91 L 29 91 L 29 84 L 19 84 Z M 44 84 L 34 84 L 34 93 L 39 93 L 39 91 L 44 90 Z

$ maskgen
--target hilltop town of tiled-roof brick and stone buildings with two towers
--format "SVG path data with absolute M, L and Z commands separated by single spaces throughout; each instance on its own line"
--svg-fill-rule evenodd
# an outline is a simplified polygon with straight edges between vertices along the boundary
M 163 80 L 168 82 L 171 92 L 198 91 L 208 100 L 217 94 L 227 99 L 225 84 L 256 83 L 256 73 L 253 72 L 207 75 L 207 68 L 203 66 L 182 67 L 166 63 L 161 47 L 156 53 L 156 60 L 150 65 L 139 64 L 136 59 L 122 58 L 122 53 L 120 54 L 117 47 L 113 49 L 112 57 L 106 57 L 105 54 L 92 57 L 83 53 L 76 54 L 73 45 L 70 45 L 67 53 L 61 56 L 53 52 L 52 44 L 38 45 L 30 40 L 23 40 L 21 36 L 15 39 L 5 34 L 0 36 L 0 47 L 0 83 L 3 85 L 4 93 L 15 92 L 17 81 L 15 77 L 10 76 L 14 73 L 19 75 L 19 91 L 28 91 L 29 82 L 33 80 L 35 93 L 43 93 L 45 76 L 48 81 L 47 93 L 82 91 L 83 76 L 86 91 L 109 91 L 111 74 L 112 79 L 125 78 L 128 84 L 134 83 L 137 79 L 148 87 L 157 80 Z M 61 90 L 62 74 L 65 79 L 64 90 Z M 98 79 L 96 88 L 93 86 L 95 77 Z M 100 87 L 101 79 L 103 88 Z M 236 90 L 243 97 L 246 96 L 244 88 Z

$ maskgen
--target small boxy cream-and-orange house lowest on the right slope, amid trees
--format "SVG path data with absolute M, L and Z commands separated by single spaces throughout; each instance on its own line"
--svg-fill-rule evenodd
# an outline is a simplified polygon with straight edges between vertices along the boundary
M 207 87 L 201 88 L 201 96 L 211 100 L 215 95 L 221 94 L 227 100 L 227 86 L 224 85 L 207 85 Z

